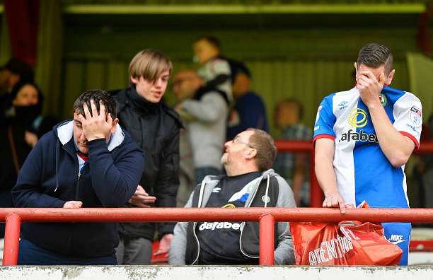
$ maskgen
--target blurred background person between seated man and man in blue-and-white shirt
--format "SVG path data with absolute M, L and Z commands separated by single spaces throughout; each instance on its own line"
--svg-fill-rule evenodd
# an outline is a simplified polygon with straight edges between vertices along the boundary
M 277 103 L 275 107 L 275 124 L 282 132 L 281 138 L 294 141 L 310 141 L 312 132 L 302 123 L 303 105 L 294 98 Z M 309 158 L 307 153 L 278 153 L 274 168 L 289 182 L 294 192 L 296 205 L 308 206 L 309 192 Z

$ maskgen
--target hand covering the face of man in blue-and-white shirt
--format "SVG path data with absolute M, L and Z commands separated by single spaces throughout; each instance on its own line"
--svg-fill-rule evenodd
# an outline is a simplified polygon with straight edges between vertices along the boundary
M 357 89 L 362 102 L 367 107 L 381 105 L 379 94 L 382 91 L 383 85 L 385 84 L 385 74 L 382 72 L 379 75 L 379 81 L 371 71 L 360 71 L 357 74 Z

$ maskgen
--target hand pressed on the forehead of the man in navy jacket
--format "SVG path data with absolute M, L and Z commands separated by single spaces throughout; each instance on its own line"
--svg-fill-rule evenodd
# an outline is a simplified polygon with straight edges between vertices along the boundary
M 99 103 L 99 114 L 93 99 L 91 100 L 91 108 L 89 109 L 84 103 L 83 109 L 85 117 L 79 115 L 79 121 L 83 125 L 83 133 L 87 140 L 106 139 L 112 129 L 112 117 L 105 112 L 105 105 L 102 101 Z

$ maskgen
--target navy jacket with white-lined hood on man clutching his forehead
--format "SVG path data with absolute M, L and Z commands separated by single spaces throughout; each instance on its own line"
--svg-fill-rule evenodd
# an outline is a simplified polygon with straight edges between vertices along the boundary
M 16 207 L 62 207 L 76 200 L 83 207 L 120 207 L 134 194 L 144 156 L 119 125 L 110 142 L 88 142 L 88 162 L 79 176 L 73 122 L 58 124 L 28 155 L 12 190 Z M 21 237 L 40 247 L 74 257 L 114 254 L 116 223 L 23 223 Z

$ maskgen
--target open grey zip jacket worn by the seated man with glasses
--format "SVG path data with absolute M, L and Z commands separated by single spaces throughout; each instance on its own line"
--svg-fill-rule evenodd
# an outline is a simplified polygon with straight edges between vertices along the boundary
M 284 178 L 282 178 L 277 173 L 275 173 L 274 170 L 272 169 L 263 172 L 260 177 L 255 178 L 254 180 L 248 183 L 248 185 L 251 185 L 251 191 L 246 201 L 245 207 L 249 207 L 253 202 L 253 199 L 255 198 L 258 192 L 258 187 L 262 182 L 262 180 L 267 180 L 267 182 L 270 182 L 271 177 L 275 177 L 275 179 L 277 179 L 277 184 L 278 184 L 278 198 L 275 206 L 296 207 L 293 192 L 291 191 L 291 188 L 287 184 L 286 180 L 284 180 Z M 219 183 L 218 178 L 219 177 L 212 176 L 212 175 L 208 175 L 204 177 L 204 180 L 202 181 L 200 188 L 196 187 L 196 190 L 198 189 L 200 191 L 200 196 L 198 199 L 198 205 L 194 205 L 194 207 L 206 206 L 207 201 L 209 200 L 209 197 L 212 194 L 212 190 Z M 267 187 L 269 187 L 269 184 L 267 184 Z M 185 205 L 185 207 L 187 208 L 192 207 L 192 197 L 194 197 L 194 192 L 192 192 L 192 194 L 190 195 L 190 199 L 188 199 L 188 202 Z M 194 228 L 196 224 L 197 222 L 194 222 Z M 169 264 L 185 265 L 185 254 L 187 250 L 187 232 L 188 232 L 187 227 L 188 227 L 188 222 L 179 222 L 176 224 L 174 228 L 174 238 L 171 243 L 169 260 L 168 260 Z M 247 250 L 244 250 L 245 248 L 243 248 L 241 245 L 242 244 L 241 240 L 243 238 L 243 231 L 246 230 L 246 228 L 248 227 L 241 226 L 241 238 L 239 240 L 241 252 L 243 253 L 243 255 L 246 255 L 247 257 L 258 258 L 258 255 L 252 256 L 246 254 Z M 293 245 L 291 243 L 289 223 L 279 222 L 277 223 L 277 228 L 275 228 L 275 230 L 277 234 L 277 240 L 276 240 L 277 247 L 274 252 L 275 264 L 294 264 L 294 250 L 293 250 Z M 199 241 L 196 236 L 195 239 L 197 240 L 198 243 Z M 200 245 L 198 250 L 200 253 Z M 197 263 L 197 259 L 198 259 L 198 254 L 197 254 L 197 258 L 192 264 Z

